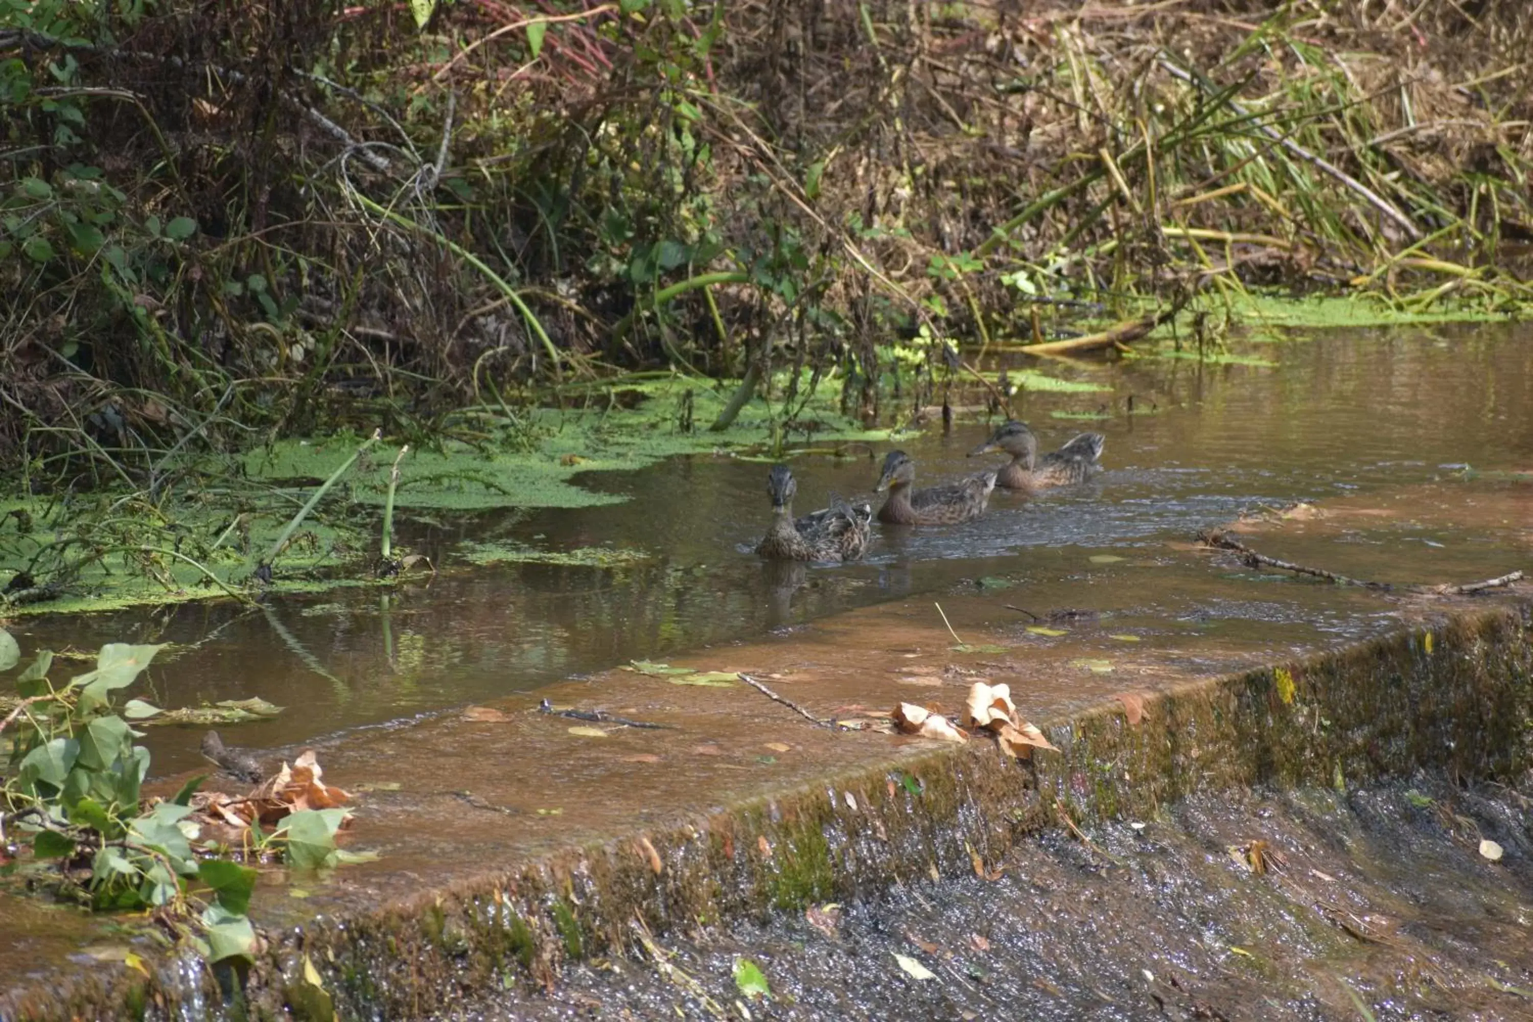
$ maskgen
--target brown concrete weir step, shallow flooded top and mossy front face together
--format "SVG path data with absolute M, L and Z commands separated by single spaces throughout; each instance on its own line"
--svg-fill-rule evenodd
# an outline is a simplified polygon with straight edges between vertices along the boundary
M 983 735 L 831 729 L 739 682 L 633 670 L 356 732 L 319 755 L 327 780 L 360 791 L 351 846 L 380 858 L 270 876 L 248 976 L 221 985 L 195 958 L 6 895 L 0 1019 L 425 1017 L 504 984 L 556 988 L 572 959 L 622 953 L 641 925 L 664 935 L 972 872 L 1064 814 L 1084 824 L 1252 785 L 1533 765 L 1533 587 L 1381 602 L 1274 584 L 1286 595 L 1268 602 L 1294 601 L 1288 630 L 1240 630 L 1197 608 L 1248 596 L 1249 581 L 1200 556 L 1156 568 L 1206 579 L 1182 587 L 1185 605 L 1114 584 L 1091 593 L 1095 616 L 1047 627 L 978 587 L 941 598 L 947 625 L 909 599 L 687 657 L 837 720 L 900 700 L 958 712 L 973 680 L 1007 682 L 1058 746 L 1027 762 Z M 1078 581 L 1027 590 L 1036 608 L 1081 598 Z M 541 697 L 662 726 L 561 717 Z

